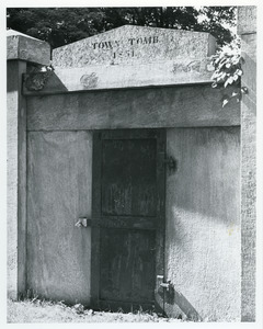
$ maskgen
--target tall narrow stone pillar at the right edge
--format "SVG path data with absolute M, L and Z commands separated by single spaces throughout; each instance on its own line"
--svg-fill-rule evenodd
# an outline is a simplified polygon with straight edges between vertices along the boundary
M 242 87 L 248 89 L 241 102 L 241 226 L 242 226 L 242 321 L 255 321 L 255 229 L 256 229 L 256 7 L 238 9 L 241 36 Z

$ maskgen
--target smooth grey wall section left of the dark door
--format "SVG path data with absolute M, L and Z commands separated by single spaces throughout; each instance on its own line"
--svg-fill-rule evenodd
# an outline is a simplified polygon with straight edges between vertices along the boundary
M 39 297 L 90 302 L 92 135 L 27 137 L 27 287 Z

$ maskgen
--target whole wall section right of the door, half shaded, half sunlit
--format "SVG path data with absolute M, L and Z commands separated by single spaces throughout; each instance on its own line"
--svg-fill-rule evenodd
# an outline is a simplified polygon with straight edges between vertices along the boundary
M 165 309 L 193 318 L 240 321 L 240 128 L 168 131 Z

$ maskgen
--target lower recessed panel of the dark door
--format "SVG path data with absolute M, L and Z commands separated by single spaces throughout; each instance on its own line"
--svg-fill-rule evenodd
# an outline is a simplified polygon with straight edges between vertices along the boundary
M 100 298 L 153 302 L 155 231 L 102 228 L 101 234 Z

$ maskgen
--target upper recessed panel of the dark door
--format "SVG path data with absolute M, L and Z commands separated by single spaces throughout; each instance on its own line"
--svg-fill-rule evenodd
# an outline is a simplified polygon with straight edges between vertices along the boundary
M 155 216 L 156 139 L 105 139 L 102 152 L 102 214 Z

